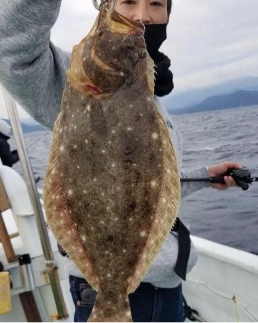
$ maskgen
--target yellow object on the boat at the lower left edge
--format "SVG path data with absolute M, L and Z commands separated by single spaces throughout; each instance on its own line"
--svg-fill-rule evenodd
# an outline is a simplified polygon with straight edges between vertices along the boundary
M 9 273 L 8 271 L 2 271 L 0 272 L 0 314 L 8 313 L 11 309 L 12 304 Z

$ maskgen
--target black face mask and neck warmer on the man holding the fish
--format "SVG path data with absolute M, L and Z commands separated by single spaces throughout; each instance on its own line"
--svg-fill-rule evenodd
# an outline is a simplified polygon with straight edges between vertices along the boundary
M 161 44 L 167 37 L 166 24 L 162 25 L 145 25 L 145 43 L 147 51 L 155 63 L 155 87 L 154 94 L 162 97 L 169 94 L 173 88 L 173 74 L 169 70 L 170 59 L 159 52 Z

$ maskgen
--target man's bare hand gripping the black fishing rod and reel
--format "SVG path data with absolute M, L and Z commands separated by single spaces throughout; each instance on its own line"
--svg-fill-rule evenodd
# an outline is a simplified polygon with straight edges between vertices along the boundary
M 229 168 L 240 169 L 242 166 L 236 162 L 222 162 L 220 164 L 212 165 L 208 167 L 210 177 L 223 176 Z M 212 187 L 218 190 L 226 190 L 230 186 L 237 186 L 236 182 L 231 176 L 224 176 L 225 184 L 212 183 Z

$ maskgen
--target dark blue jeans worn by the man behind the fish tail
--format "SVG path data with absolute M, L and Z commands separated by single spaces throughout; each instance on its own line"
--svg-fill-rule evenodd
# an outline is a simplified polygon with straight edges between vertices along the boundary
M 74 322 L 87 322 L 95 303 L 96 292 L 83 278 L 69 276 L 73 297 Z M 182 285 L 175 288 L 158 288 L 141 283 L 129 294 L 134 322 L 184 322 Z

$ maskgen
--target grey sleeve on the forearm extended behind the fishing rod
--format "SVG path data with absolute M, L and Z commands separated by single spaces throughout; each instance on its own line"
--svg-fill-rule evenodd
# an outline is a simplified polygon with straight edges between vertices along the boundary
M 204 178 L 204 177 L 205 178 L 210 177 L 206 166 L 189 170 L 189 171 L 181 170 L 181 178 Z M 211 187 L 211 183 L 210 182 L 182 182 L 181 199 L 204 187 Z

